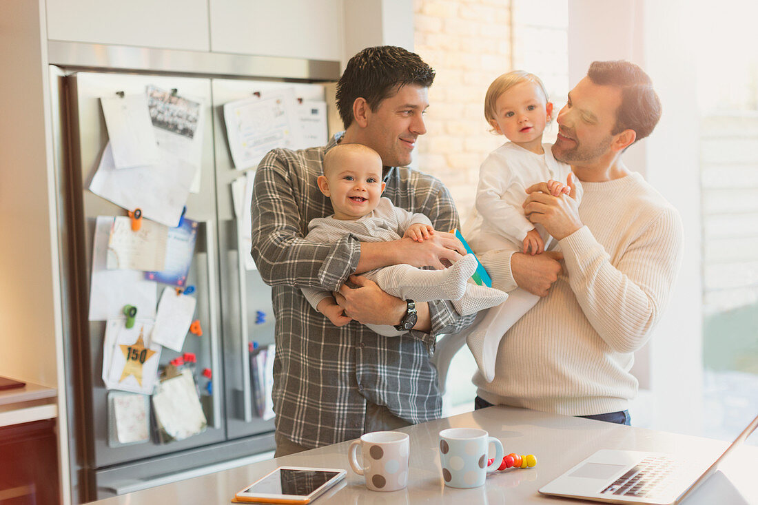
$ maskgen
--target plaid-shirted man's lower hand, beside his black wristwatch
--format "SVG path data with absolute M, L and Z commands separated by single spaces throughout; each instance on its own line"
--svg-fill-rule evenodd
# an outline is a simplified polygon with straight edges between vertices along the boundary
M 384 293 L 374 281 L 359 275 L 351 275 L 334 298 L 347 317 L 362 325 L 399 325 L 408 309 L 406 302 Z

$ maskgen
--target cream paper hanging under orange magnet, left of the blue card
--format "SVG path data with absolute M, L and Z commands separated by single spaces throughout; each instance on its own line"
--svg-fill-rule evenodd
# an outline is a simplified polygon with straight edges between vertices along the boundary
M 163 270 L 167 240 L 168 227 L 164 224 L 143 219 L 139 230 L 133 231 L 131 218 L 116 216 L 111 222 L 105 266 L 108 270 Z

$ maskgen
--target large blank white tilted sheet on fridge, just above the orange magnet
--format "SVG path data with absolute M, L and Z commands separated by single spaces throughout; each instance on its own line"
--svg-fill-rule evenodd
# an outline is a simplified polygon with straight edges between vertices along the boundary
M 89 190 L 124 209 L 142 209 L 143 217 L 152 221 L 177 226 L 196 169 L 171 152 L 158 152 L 157 165 L 116 170 L 108 143 Z

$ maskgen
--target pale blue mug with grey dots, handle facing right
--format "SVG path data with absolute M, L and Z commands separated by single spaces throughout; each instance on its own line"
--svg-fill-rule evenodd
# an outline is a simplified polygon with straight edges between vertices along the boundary
M 490 444 L 495 446 L 495 456 L 488 466 Z M 449 428 L 440 431 L 440 461 L 446 486 L 476 488 L 484 484 L 487 472 L 500 466 L 503 444 L 478 428 Z

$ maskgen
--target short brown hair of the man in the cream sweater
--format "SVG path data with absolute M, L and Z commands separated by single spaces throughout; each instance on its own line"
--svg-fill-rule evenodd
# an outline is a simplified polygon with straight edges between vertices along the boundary
M 634 130 L 637 140 L 653 132 L 661 118 L 661 102 L 653 89 L 650 76 L 630 61 L 593 61 L 587 77 L 600 86 L 616 86 L 621 89 L 622 101 L 616 110 L 616 124 L 612 135 L 624 130 Z

